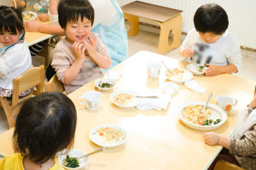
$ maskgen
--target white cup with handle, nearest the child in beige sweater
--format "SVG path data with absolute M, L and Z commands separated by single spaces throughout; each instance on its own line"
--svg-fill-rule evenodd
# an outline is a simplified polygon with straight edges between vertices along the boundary
M 102 94 L 97 91 L 87 91 L 83 96 L 78 97 L 80 104 L 85 104 L 85 107 L 89 110 L 95 110 L 99 107 L 100 98 Z M 83 100 L 83 102 L 81 102 Z

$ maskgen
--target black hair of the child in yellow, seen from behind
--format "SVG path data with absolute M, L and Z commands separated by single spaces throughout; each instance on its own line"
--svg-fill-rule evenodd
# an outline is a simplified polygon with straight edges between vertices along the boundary
M 26 100 L 13 134 L 16 152 L 41 165 L 73 144 L 76 109 L 60 92 L 45 92 Z

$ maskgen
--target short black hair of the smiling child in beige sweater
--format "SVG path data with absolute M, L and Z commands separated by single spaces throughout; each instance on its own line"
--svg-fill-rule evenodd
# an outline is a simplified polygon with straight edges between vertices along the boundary
M 58 4 L 58 15 L 60 26 L 65 29 L 68 21 L 77 21 L 79 16 L 81 20 L 86 17 L 94 21 L 94 9 L 88 0 L 60 0 Z

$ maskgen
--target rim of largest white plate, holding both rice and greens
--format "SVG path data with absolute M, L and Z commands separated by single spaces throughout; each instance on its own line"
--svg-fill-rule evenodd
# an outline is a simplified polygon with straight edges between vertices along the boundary
M 187 121 L 182 116 L 181 113 L 184 111 L 184 109 L 187 105 L 195 105 L 195 104 L 204 106 L 205 101 L 189 101 L 184 104 L 181 104 L 180 107 L 178 108 L 178 113 L 179 113 L 180 119 L 187 126 L 197 129 L 197 130 L 212 130 L 212 129 L 219 127 L 221 124 L 223 124 L 226 121 L 227 114 L 225 113 L 225 111 L 223 109 L 221 109 L 219 106 L 212 104 L 212 103 L 208 103 L 208 105 L 207 105 L 207 108 L 212 111 L 210 119 L 216 120 L 216 119 L 220 118 L 221 121 L 219 123 L 213 124 L 213 125 L 198 125 L 198 124 L 194 124 L 192 122 Z

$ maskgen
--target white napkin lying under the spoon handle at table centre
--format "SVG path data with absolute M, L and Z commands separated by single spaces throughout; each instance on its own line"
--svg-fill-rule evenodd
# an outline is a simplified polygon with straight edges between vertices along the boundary
M 140 110 L 161 110 L 167 109 L 168 104 L 171 100 L 171 96 L 169 94 L 160 94 L 159 98 L 143 98 L 142 102 L 138 104 L 136 107 Z

